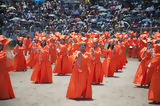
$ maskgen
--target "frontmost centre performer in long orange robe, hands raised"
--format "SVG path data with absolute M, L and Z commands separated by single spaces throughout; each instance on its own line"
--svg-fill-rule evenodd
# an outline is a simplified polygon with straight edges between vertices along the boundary
M 75 62 L 66 94 L 66 97 L 70 99 L 92 98 L 92 87 L 89 77 L 90 56 L 85 51 L 85 48 L 86 43 L 81 42 L 80 51 L 76 51 L 73 55 L 75 57 Z

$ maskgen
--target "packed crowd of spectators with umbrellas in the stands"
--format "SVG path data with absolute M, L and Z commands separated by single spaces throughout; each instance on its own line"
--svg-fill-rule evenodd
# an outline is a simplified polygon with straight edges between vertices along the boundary
M 91 0 L 90 0 L 91 1 Z M 104 3 L 106 2 L 106 3 Z M 1 2 L 0 25 L 8 37 L 26 32 L 152 32 L 160 27 L 160 6 L 149 0 L 99 0 L 74 2 L 62 0 Z M 157 28 L 157 29 L 156 29 Z

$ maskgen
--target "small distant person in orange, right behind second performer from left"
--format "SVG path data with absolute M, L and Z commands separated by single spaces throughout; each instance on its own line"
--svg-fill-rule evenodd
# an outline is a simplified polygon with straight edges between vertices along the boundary
M 29 52 L 29 54 L 31 53 L 31 39 L 29 38 L 29 34 L 27 33 L 27 38 L 24 38 L 24 53 L 25 55 L 27 55 L 27 52 Z

